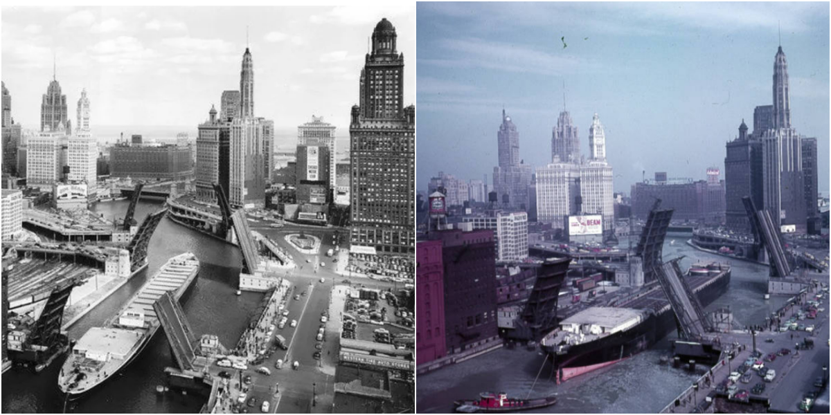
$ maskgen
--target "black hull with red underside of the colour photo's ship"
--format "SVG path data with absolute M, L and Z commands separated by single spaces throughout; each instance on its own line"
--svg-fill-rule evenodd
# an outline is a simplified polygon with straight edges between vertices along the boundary
M 718 281 L 698 291 L 697 297 L 701 305 L 710 305 L 727 291 L 730 272 L 728 270 L 723 275 L 715 276 Z M 612 334 L 600 341 L 573 345 L 565 353 L 558 354 L 553 345 L 545 345 L 542 349 L 547 353 L 547 359 L 553 359 L 557 369 L 557 382 L 560 383 L 641 353 L 674 329 L 676 319 L 670 308 L 657 315 L 649 315 L 641 324 L 629 330 Z

